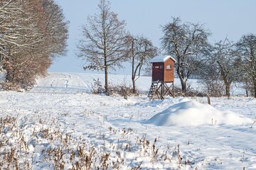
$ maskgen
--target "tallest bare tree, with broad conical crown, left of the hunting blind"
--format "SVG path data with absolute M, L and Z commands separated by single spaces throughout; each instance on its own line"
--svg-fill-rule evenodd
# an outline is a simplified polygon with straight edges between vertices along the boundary
M 121 67 L 127 57 L 126 23 L 110 11 L 110 2 L 101 0 L 99 13 L 87 18 L 82 27 L 84 39 L 78 43 L 78 57 L 86 60 L 84 69 L 105 70 L 105 91 L 108 92 L 108 69 Z

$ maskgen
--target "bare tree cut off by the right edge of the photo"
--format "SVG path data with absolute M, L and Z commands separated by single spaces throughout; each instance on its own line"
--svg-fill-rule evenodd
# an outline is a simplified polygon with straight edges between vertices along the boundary
M 242 61 L 239 75 L 246 84 L 252 84 L 256 98 L 256 35 L 242 35 L 236 45 Z

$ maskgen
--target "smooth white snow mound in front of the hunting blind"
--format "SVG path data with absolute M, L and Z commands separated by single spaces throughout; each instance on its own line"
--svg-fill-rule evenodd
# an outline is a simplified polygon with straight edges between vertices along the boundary
M 231 111 L 218 111 L 208 104 L 184 101 L 157 113 L 146 123 L 158 126 L 246 125 L 253 120 Z

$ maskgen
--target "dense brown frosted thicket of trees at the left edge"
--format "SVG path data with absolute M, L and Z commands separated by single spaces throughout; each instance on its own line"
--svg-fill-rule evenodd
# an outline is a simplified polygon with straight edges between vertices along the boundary
M 68 21 L 53 0 L 0 1 L 0 69 L 6 90 L 30 89 L 65 54 Z

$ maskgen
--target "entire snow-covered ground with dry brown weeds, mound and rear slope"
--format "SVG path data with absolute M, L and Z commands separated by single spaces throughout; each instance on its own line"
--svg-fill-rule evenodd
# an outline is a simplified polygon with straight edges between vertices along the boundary
M 255 98 L 126 100 L 91 94 L 98 78 L 51 73 L 29 92 L 0 91 L 1 169 L 256 169 Z

